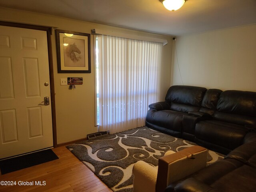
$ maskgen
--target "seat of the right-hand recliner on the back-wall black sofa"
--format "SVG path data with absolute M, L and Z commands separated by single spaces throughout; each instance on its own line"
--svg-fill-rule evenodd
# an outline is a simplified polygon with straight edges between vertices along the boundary
M 248 130 L 244 126 L 216 120 L 206 120 L 196 124 L 195 141 L 198 144 L 202 144 L 202 146 L 209 144 L 209 146 L 204 147 L 227 154 L 227 152 L 243 144 L 244 136 L 247 132 Z M 224 149 L 226 149 L 226 152 Z

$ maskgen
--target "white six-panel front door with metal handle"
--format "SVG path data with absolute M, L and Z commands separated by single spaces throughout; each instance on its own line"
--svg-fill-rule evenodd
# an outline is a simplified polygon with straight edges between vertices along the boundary
M 51 100 L 44 105 L 44 97 L 50 99 L 46 32 L 0 26 L 0 158 L 53 146 Z

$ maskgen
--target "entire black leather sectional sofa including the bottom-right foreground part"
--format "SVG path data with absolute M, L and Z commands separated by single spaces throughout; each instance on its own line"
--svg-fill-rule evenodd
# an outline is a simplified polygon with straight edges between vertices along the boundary
M 256 191 L 256 92 L 171 86 L 146 125 L 226 154 L 166 192 Z

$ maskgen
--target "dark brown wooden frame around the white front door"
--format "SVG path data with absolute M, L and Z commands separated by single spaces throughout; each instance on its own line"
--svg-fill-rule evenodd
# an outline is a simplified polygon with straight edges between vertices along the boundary
M 51 91 L 51 105 L 52 105 L 52 138 L 53 147 L 57 147 L 57 128 L 56 128 L 56 109 L 55 109 L 55 91 L 54 91 L 54 71 L 53 71 L 53 59 L 52 59 L 52 27 L 48 26 L 36 26 L 29 24 L 13 23 L 0 21 L 1 26 L 18 27 L 26 29 L 34 29 L 46 31 L 47 34 L 47 46 L 48 46 L 48 62 L 49 62 L 49 76 L 50 76 L 50 91 Z

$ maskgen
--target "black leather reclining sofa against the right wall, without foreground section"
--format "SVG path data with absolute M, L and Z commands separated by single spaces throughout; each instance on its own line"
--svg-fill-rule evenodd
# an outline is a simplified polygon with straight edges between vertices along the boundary
M 256 92 L 171 86 L 149 108 L 146 126 L 222 154 L 255 138 Z

